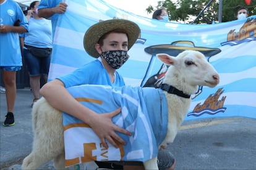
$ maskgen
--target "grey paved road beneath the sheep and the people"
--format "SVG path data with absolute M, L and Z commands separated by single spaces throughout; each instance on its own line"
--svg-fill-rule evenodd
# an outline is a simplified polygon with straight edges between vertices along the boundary
M 17 91 L 15 126 L 0 126 L 1 169 L 20 169 L 32 148 L 29 89 Z M 5 94 L 0 94 L 0 123 L 6 115 Z M 168 150 L 176 156 L 176 169 L 256 169 L 256 119 L 212 118 L 186 121 Z M 53 169 L 53 163 L 40 169 Z

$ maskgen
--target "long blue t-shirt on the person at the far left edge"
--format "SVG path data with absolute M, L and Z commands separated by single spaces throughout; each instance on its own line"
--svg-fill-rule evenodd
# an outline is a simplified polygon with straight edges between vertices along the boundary
M 12 0 L 0 4 L 0 25 L 14 25 L 20 20 L 20 26 L 28 30 L 28 22 L 22 9 Z M 22 66 L 19 33 L 13 31 L 0 33 L 0 66 Z

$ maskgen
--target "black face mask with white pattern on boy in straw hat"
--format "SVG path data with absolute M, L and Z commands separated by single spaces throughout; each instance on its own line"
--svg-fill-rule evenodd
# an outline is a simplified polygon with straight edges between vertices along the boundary
M 114 69 L 120 68 L 129 59 L 127 51 L 121 50 L 105 51 L 100 55 L 100 57 L 103 57 L 108 65 Z

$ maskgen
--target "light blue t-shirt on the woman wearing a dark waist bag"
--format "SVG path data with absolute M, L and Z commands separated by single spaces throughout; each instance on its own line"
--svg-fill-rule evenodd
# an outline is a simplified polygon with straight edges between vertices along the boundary
M 24 44 L 38 48 L 52 48 L 51 20 L 30 18 L 29 32 L 25 33 Z

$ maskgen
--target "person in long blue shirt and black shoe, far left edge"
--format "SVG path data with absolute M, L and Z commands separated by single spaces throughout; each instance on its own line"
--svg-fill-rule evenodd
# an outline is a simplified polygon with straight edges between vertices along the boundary
M 19 33 L 28 31 L 28 22 L 17 2 L 0 0 L 0 69 L 6 87 L 7 115 L 3 126 L 14 126 L 16 71 L 22 67 Z

